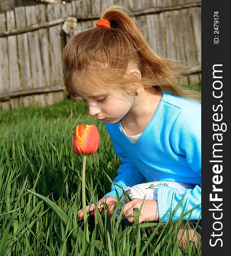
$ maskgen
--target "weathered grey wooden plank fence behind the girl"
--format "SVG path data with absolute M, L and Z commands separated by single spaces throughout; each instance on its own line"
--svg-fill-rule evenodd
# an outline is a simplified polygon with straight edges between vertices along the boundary
M 95 26 L 108 6 L 121 4 L 137 18 L 151 47 L 163 58 L 183 61 L 181 82 L 200 83 L 201 1 L 73 0 L 65 5 L 16 7 L 0 14 L 0 109 L 50 105 L 63 99 L 61 52 L 74 32 Z M 77 18 L 66 35 L 67 17 Z

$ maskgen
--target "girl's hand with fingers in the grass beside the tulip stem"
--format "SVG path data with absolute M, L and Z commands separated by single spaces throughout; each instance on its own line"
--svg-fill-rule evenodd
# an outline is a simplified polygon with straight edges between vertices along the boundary
M 98 201 L 98 210 L 99 212 L 102 211 L 102 209 L 104 208 L 104 205 L 102 203 L 106 203 L 108 205 L 108 215 L 111 216 L 117 200 L 114 197 L 108 196 L 106 198 L 102 198 Z M 102 205 L 101 205 L 102 204 Z M 94 219 L 96 218 L 96 212 L 95 212 L 95 206 L 94 204 L 88 205 L 86 207 L 87 213 L 88 213 L 88 217 L 90 216 L 94 216 Z M 78 218 L 83 218 L 83 208 L 81 210 L 78 211 Z M 97 224 L 98 224 L 98 220 L 97 220 Z

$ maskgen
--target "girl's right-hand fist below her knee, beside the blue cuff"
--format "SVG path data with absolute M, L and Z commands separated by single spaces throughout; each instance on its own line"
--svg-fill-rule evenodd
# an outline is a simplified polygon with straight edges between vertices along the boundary
M 134 199 L 127 204 L 125 204 L 123 210 L 123 216 L 125 216 L 129 222 L 134 223 L 134 208 L 140 207 L 143 203 L 143 199 Z M 157 208 L 157 201 L 156 200 L 144 200 L 143 207 L 140 211 L 139 215 L 139 223 L 143 221 L 158 221 L 159 214 Z

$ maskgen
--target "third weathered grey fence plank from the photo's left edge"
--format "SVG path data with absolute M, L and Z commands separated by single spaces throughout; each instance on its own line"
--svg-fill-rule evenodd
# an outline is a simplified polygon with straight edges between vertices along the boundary
M 17 29 L 26 27 L 26 14 L 23 6 L 15 8 L 15 19 Z M 17 40 L 22 87 L 29 89 L 31 88 L 31 67 L 27 34 L 17 35 Z

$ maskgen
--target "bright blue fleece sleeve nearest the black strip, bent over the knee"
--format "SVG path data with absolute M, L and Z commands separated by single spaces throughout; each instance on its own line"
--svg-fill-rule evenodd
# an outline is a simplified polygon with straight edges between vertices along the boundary
M 201 177 L 201 108 L 189 108 L 180 113 L 170 133 L 170 144 L 176 154 L 185 156 L 192 172 L 198 172 Z M 183 201 L 172 220 L 176 221 L 180 218 L 185 204 L 184 213 L 196 207 L 192 211 L 190 219 L 197 220 L 201 218 L 200 184 L 196 185 L 194 189 L 187 189 L 183 195 L 180 195 L 177 189 L 159 185 L 157 191 L 159 218 L 163 218 L 165 213 L 168 212 L 163 222 L 168 221 L 170 209 L 173 212 L 182 198 Z M 183 219 L 186 221 L 188 217 L 189 214 L 185 215 Z

